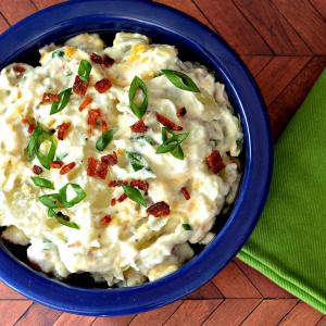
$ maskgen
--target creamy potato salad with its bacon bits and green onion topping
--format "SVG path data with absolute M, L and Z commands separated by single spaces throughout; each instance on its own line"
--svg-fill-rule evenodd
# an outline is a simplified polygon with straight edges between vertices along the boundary
M 117 33 L 40 51 L 0 74 L 0 226 L 64 279 L 136 286 L 208 244 L 241 177 L 224 85 L 177 49 Z

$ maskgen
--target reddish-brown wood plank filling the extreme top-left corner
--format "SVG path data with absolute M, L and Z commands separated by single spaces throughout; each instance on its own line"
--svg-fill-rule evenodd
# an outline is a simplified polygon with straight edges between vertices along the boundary
M 0 1 L 0 12 L 10 24 L 15 24 L 16 22 L 33 14 L 35 11 L 36 8 L 29 0 Z

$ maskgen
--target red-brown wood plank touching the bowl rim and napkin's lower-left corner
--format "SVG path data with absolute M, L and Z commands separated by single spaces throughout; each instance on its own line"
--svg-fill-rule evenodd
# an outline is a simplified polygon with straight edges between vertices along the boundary
M 234 262 L 215 276 L 213 283 L 225 298 L 262 298 L 262 294 Z

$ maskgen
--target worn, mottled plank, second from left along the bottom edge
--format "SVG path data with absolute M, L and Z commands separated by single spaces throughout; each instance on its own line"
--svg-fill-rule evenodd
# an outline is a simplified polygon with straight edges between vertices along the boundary
M 60 311 L 34 303 L 20 318 L 15 326 L 48 326 L 52 325 L 60 315 Z

